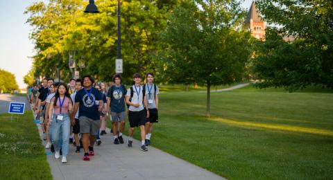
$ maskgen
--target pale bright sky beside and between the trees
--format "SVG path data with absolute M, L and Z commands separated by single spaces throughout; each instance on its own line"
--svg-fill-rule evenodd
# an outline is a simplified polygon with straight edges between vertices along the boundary
M 0 69 L 15 74 L 22 89 L 26 87 L 23 77 L 31 69 L 31 57 L 35 55 L 33 42 L 28 38 L 31 27 L 26 24 L 28 15 L 24 11 L 35 1 L 40 0 L 0 0 Z M 251 3 L 252 0 L 244 0 L 242 7 L 249 9 Z

